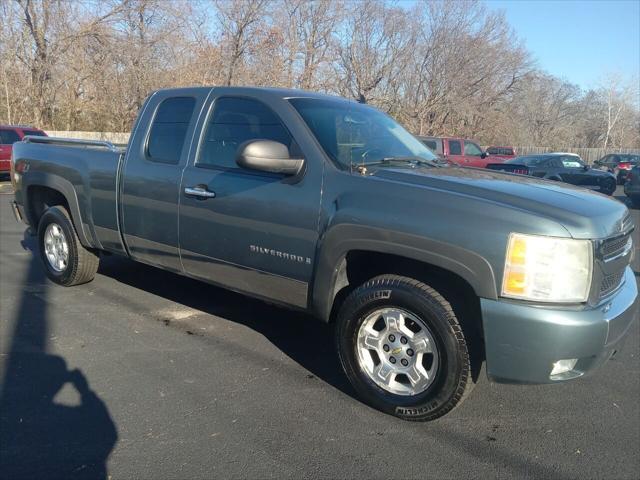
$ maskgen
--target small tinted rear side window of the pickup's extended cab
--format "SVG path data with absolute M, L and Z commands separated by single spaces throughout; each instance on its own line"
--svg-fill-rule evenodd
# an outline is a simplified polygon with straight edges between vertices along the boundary
M 147 140 L 146 158 L 177 165 L 180 162 L 196 99 L 171 97 L 158 106 Z

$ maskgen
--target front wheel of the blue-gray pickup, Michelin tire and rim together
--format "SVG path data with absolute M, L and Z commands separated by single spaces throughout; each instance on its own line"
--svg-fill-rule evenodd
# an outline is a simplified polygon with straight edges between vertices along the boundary
M 467 340 L 436 290 L 382 275 L 357 288 L 336 328 L 344 371 L 362 399 L 405 420 L 434 420 L 473 387 Z

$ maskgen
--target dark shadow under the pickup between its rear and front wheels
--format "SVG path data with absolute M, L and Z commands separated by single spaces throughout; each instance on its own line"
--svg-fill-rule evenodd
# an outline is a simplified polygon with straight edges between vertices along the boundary
M 98 273 L 203 314 L 244 325 L 263 335 L 305 368 L 311 374 L 307 375 L 308 378 L 315 376 L 356 398 L 335 354 L 333 325 L 316 320 L 304 312 L 271 305 L 122 257 L 101 258 Z M 113 291 L 101 291 L 100 294 L 107 297 L 117 295 Z M 118 296 L 114 300 L 120 305 L 128 305 L 137 313 L 150 313 L 148 307 L 136 304 L 133 299 Z M 155 319 L 167 326 L 183 329 L 187 334 L 200 335 L 188 324 L 185 326 L 183 322 L 172 318 Z

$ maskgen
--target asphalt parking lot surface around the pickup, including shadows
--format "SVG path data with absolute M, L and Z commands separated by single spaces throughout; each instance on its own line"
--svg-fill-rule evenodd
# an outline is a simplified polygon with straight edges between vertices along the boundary
M 298 313 L 117 257 L 54 285 L 0 193 L 0 477 L 638 478 L 638 322 L 592 376 L 481 376 L 403 422 L 354 398 L 331 328 Z

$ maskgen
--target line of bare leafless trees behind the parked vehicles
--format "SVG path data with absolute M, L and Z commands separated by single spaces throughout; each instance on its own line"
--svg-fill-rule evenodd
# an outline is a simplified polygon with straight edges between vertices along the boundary
M 480 0 L 0 0 L 0 122 L 127 131 L 155 89 L 250 84 L 339 93 L 419 134 L 640 147 L 637 81 L 540 71 Z

